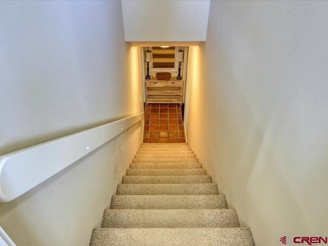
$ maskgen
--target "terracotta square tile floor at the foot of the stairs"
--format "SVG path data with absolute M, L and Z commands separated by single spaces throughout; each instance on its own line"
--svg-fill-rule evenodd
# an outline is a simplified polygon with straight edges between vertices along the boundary
M 148 104 L 144 142 L 186 142 L 179 104 Z

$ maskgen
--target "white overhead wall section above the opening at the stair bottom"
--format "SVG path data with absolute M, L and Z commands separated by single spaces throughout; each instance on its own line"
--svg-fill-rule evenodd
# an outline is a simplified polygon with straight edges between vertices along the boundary
M 209 0 L 123 0 L 121 2 L 127 42 L 206 40 Z

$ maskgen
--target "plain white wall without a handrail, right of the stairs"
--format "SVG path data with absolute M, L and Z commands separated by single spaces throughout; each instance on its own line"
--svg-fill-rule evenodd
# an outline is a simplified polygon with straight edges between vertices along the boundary
M 191 148 L 257 245 L 327 236 L 328 3 L 212 1 L 190 49 Z

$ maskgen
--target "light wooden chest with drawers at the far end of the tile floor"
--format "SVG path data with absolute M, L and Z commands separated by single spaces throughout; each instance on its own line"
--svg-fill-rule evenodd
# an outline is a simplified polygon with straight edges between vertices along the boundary
M 182 104 L 183 80 L 146 79 L 146 104 Z

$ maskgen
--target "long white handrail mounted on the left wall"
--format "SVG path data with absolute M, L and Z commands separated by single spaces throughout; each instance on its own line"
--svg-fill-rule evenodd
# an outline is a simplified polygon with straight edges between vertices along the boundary
M 136 124 L 144 113 L 0 156 L 0 202 L 23 195 Z

